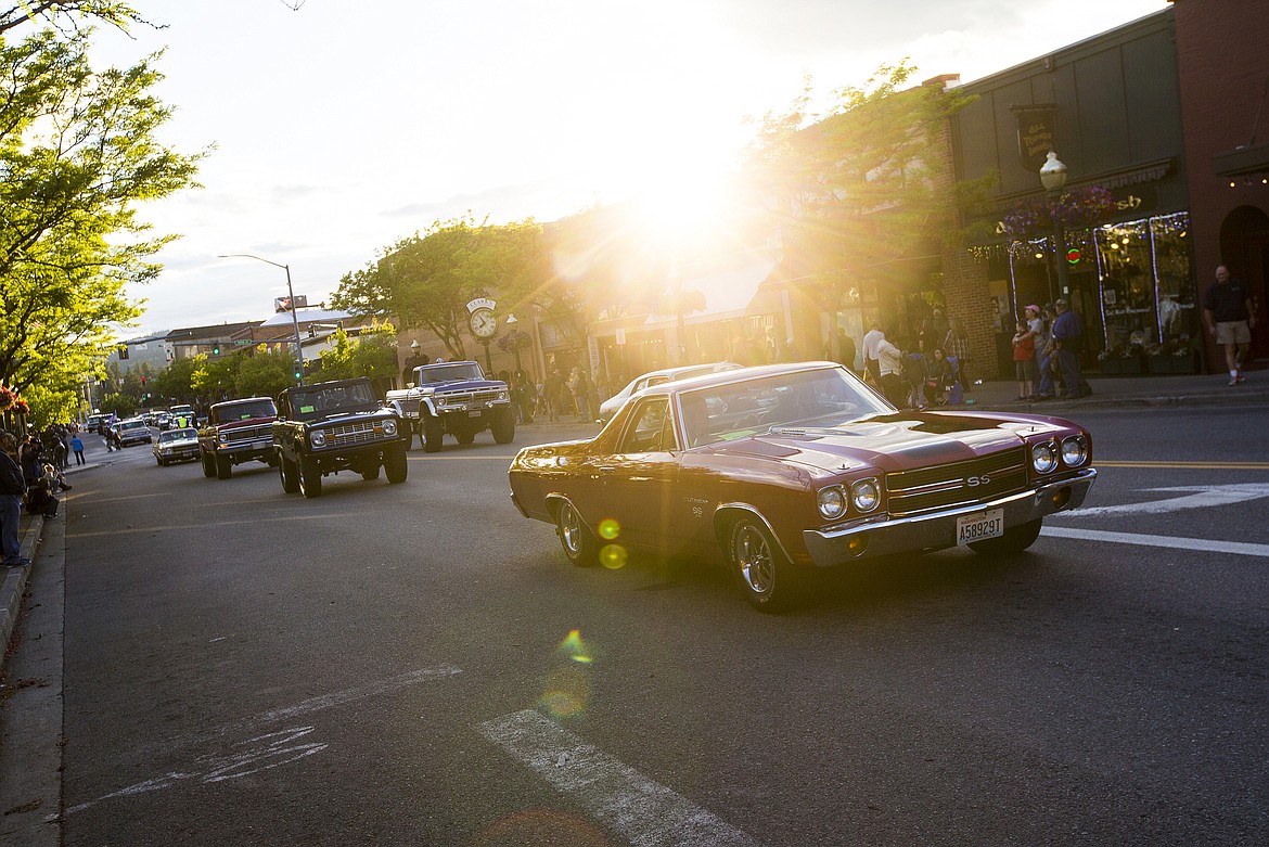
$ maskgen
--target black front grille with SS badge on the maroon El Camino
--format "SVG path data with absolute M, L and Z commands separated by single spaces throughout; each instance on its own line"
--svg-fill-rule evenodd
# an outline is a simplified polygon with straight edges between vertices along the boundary
M 987 482 L 981 482 L 982 478 Z M 971 479 L 980 481 L 970 484 Z M 952 464 L 886 474 L 890 514 L 919 515 L 972 506 L 1027 487 L 1027 449 L 1016 448 Z

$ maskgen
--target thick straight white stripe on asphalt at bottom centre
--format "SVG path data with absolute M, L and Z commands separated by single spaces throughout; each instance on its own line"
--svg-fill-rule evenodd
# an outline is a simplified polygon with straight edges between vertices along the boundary
M 634 847 L 759 847 L 741 831 L 533 709 L 478 729 Z

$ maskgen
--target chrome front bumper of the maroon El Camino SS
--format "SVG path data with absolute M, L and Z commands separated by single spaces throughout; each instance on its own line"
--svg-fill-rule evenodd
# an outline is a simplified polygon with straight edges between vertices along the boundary
M 973 506 L 940 510 L 912 517 L 882 519 L 832 530 L 803 530 L 802 540 L 807 553 L 811 554 L 811 560 L 820 568 L 896 553 L 942 550 L 956 546 L 958 517 L 983 512 L 989 508 L 1004 508 L 1005 529 L 1008 530 L 1046 515 L 1079 508 L 1096 478 L 1098 472 L 1086 468 L 1075 477 L 1047 482 L 1037 488 L 1028 488 L 1016 495 Z

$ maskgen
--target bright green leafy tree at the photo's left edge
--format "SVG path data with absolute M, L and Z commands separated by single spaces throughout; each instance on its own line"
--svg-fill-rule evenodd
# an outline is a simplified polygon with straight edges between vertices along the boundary
M 55 6 L 127 15 L 110 3 L 36 11 Z M 148 93 L 156 57 L 95 72 L 86 44 L 47 30 L 0 41 L 0 383 L 19 391 L 100 374 L 110 325 L 140 314 L 127 284 L 155 278 L 148 257 L 174 238 L 148 233 L 137 205 L 193 185 L 202 157 L 156 141 L 170 117 Z

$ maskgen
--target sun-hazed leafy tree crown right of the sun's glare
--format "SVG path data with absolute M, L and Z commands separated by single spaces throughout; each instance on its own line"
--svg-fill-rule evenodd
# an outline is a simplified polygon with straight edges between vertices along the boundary
M 958 210 L 995 176 L 954 184 L 945 132 L 972 100 L 940 85 L 904 89 L 907 60 L 882 65 L 864 87 L 836 91 L 826 117 L 808 91 L 768 115 L 751 152 L 759 185 L 782 209 L 786 252 L 829 281 L 877 276 L 914 252 L 959 243 Z

